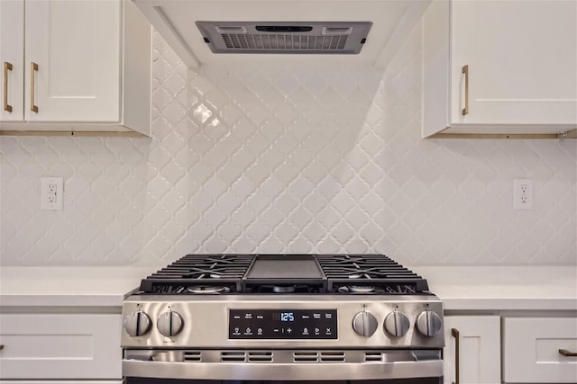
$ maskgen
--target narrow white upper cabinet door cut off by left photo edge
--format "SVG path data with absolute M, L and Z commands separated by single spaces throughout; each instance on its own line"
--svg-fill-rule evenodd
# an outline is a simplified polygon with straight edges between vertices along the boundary
M 23 121 L 24 1 L 0 1 L 0 121 Z

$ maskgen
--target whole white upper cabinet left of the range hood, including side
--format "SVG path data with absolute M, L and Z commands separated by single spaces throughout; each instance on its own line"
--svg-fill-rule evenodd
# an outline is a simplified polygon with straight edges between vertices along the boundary
M 151 26 L 132 2 L 3 0 L 0 16 L 3 130 L 150 135 Z

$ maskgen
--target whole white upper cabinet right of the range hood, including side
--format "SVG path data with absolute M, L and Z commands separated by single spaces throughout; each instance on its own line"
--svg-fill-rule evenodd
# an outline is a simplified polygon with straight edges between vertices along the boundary
M 424 29 L 425 137 L 577 128 L 577 1 L 435 0 Z

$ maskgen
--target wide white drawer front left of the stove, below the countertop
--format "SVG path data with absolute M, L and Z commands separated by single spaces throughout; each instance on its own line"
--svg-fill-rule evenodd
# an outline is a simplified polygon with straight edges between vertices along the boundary
M 0 379 L 121 379 L 121 316 L 0 315 Z

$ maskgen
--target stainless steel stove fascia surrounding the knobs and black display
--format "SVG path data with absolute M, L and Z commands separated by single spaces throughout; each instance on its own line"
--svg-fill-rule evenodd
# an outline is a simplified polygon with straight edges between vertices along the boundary
M 432 295 L 200 295 L 190 299 L 189 296 L 156 296 L 133 295 L 124 301 L 123 317 L 129 319 L 139 309 L 156 322 L 160 315 L 169 308 L 179 312 L 184 319 L 184 326 L 179 335 L 166 337 L 157 329 L 149 334 L 131 336 L 130 327 L 124 328 L 122 346 L 124 348 L 442 348 L 443 334 L 441 300 Z M 336 309 L 338 339 L 333 340 L 255 340 L 229 339 L 230 309 Z M 411 326 L 408 332 L 399 337 L 391 337 L 384 330 L 385 317 L 393 310 L 405 313 Z M 436 318 L 435 335 L 422 335 L 417 332 L 415 322 L 423 311 Z M 364 337 L 353 329 L 353 318 L 359 312 L 371 312 L 376 318 L 378 327 L 373 335 Z M 129 324 L 133 320 L 128 321 Z M 206 332 L 210 325 L 210 332 Z

